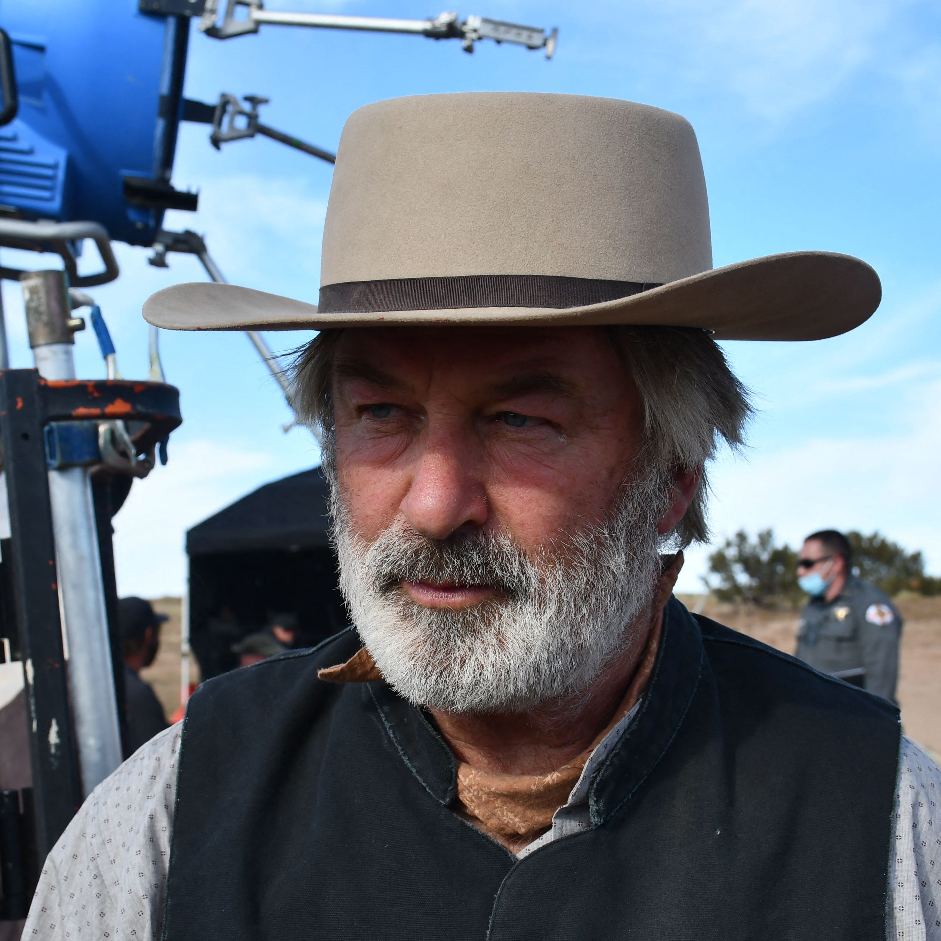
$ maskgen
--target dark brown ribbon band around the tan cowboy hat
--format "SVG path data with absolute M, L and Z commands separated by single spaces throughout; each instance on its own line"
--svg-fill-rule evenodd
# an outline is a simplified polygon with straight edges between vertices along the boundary
M 473 307 L 567 308 L 602 304 L 660 284 L 557 275 L 460 275 L 343 281 L 320 289 L 318 313 L 454 311 Z

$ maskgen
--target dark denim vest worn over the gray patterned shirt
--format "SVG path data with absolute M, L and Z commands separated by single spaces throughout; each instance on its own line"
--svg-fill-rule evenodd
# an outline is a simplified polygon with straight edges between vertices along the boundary
M 382 682 L 312 651 L 200 687 L 183 726 L 167 941 L 885 941 L 888 703 L 666 608 L 592 826 L 518 860 L 450 809 L 455 758 Z

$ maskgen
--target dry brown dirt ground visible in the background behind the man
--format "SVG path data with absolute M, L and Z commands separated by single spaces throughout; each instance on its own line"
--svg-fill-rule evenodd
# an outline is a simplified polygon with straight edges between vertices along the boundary
M 697 596 L 681 596 L 691 609 Z M 901 641 L 899 701 L 905 734 L 934 756 L 941 755 L 941 598 L 899 598 L 905 619 Z M 169 615 L 161 633 L 160 653 L 141 676 L 152 684 L 169 718 L 180 705 L 180 598 L 157 598 L 153 607 Z M 765 644 L 793 653 L 796 646 L 796 611 L 766 612 L 735 608 L 707 601 L 702 614 L 741 630 Z M 195 660 L 193 682 L 199 681 Z

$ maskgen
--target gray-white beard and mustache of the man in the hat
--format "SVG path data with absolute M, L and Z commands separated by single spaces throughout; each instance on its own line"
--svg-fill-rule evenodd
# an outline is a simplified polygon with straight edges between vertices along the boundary
M 586 690 L 631 642 L 660 573 L 666 487 L 625 484 L 609 517 L 560 533 L 530 558 L 506 534 L 433 540 L 397 520 L 374 541 L 352 532 L 331 487 L 343 598 L 391 687 L 419 706 L 522 712 Z M 402 582 L 487 584 L 496 598 L 426 608 Z

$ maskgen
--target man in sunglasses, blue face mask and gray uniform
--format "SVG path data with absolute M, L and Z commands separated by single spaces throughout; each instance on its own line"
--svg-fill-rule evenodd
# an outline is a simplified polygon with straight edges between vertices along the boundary
M 810 596 L 797 656 L 869 693 L 895 702 L 902 620 L 891 598 L 853 575 L 849 540 L 836 530 L 808 535 L 797 562 Z

